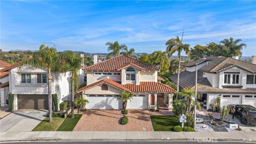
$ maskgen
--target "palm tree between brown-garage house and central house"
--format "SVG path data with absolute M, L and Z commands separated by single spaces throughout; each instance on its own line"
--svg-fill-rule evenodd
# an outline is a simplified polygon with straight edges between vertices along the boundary
M 68 64 L 68 71 L 71 83 L 71 118 L 74 118 L 74 97 L 75 91 L 78 89 L 79 74 L 78 71 L 81 68 L 82 59 L 79 55 L 72 51 L 63 53 L 63 58 Z

